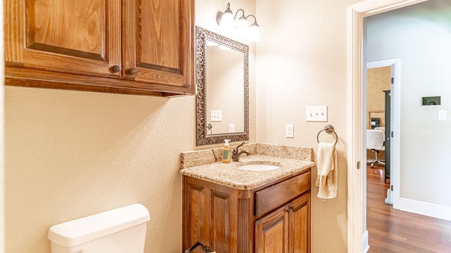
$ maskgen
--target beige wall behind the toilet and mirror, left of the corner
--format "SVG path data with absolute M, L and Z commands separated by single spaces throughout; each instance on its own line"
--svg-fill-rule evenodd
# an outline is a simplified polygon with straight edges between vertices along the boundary
M 197 1 L 201 25 L 227 4 L 209 2 Z M 254 142 L 254 51 L 249 58 Z M 194 96 L 8 86 L 5 111 L 6 252 L 48 253 L 51 225 L 135 202 L 150 212 L 145 252 L 182 251 L 180 152 L 211 148 L 195 146 Z

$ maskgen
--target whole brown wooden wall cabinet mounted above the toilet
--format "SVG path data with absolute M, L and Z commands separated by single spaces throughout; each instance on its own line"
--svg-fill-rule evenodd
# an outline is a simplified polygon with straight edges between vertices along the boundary
M 193 94 L 194 0 L 5 0 L 6 85 Z

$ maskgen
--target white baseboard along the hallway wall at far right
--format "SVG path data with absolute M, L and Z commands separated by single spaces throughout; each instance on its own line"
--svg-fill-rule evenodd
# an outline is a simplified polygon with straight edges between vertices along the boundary
M 409 200 L 400 197 L 397 202 L 397 209 L 451 221 L 451 207 L 445 207 L 443 205 Z

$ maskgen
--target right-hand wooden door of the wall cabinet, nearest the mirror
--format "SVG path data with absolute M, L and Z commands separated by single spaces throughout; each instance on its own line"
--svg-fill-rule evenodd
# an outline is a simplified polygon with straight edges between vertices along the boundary
M 124 78 L 193 93 L 194 0 L 128 0 L 123 5 Z

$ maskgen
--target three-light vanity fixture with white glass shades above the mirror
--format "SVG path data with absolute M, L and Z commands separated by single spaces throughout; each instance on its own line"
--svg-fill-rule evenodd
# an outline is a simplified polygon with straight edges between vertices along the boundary
M 237 18 L 239 12 L 242 12 L 242 15 Z M 254 22 L 249 28 L 249 23 L 247 22 L 247 18 L 254 18 Z M 240 38 L 245 38 L 247 41 L 261 41 L 260 37 L 260 27 L 257 23 L 257 18 L 255 15 L 245 15 L 245 11 L 240 8 L 235 13 L 235 17 L 233 17 L 233 12 L 230 10 L 230 3 L 227 3 L 226 11 L 219 11 L 216 13 L 216 22 L 221 28 L 222 32 L 226 35 L 234 36 Z

